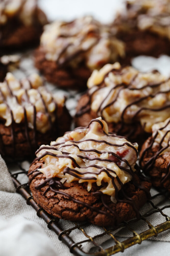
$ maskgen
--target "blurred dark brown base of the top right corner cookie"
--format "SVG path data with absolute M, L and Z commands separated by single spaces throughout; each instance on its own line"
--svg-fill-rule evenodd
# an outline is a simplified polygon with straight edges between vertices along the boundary
M 125 42 L 126 59 L 139 55 L 170 55 L 170 41 L 150 31 L 132 29 L 128 32 L 120 31 L 116 36 Z

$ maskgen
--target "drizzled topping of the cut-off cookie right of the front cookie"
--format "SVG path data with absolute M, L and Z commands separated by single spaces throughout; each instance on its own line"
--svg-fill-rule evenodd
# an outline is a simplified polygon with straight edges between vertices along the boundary
M 164 122 L 156 123 L 152 126 L 152 137 L 149 145 L 143 150 L 140 157 L 140 165 L 147 151 L 153 151 L 153 156 L 143 165 L 142 168 L 145 171 L 149 171 L 154 167 L 156 158 L 162 154 L 169 155 L 170 152 L 170 118 L 166 119 Z M 161 162 L 161 165 L 164 165 Z M 165 175 L 161 178 L 161 183 L 163 184 L 170 175 L 169 172 L 170 163 L 167 161 Z

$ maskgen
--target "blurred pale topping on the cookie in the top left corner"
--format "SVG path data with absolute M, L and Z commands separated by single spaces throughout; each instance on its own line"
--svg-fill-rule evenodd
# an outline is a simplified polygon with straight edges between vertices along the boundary
M 3 0 L 0 1 L 0 26 L 6 24 L 12 18 L 17 18 L 25 26 L 34 24 L 37 13 L 37 0 Z M 38 15 L 39 21 L 44 24 L 44 15 Z

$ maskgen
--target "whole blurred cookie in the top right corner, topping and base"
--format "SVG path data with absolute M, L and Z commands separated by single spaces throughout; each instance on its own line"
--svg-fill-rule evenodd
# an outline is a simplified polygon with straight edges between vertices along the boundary
M 168 0 L 126 1 L 126 8 L 112 24 L 125 42 L 126 57 L 170 55 L 170 2 Z

